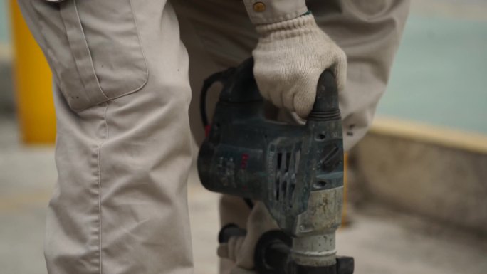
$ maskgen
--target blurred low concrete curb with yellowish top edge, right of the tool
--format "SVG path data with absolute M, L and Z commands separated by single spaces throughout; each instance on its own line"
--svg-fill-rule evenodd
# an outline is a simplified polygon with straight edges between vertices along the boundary
M 355 184 L 379 201 L 487 235 L 487 138 L 384 125 L 376 123 L 350 153 Z

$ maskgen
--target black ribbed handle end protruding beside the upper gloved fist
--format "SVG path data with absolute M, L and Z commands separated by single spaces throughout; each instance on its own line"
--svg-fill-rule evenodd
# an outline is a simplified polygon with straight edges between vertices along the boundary
M 330 70 L 321 73 L 316 87 L 316 99 L 308 120 L 335 120 L 340 118 L 338 88 Z

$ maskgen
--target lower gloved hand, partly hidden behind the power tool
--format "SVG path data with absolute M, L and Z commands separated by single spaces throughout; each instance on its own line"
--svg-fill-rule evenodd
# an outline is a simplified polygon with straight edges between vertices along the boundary
M 247 235 L 231 237 L 228 243 L 221 243 L 218 255 L 233 260 L 236 267 L 231 274 L 253 273 L 253 254 L 258 239 L 263 233 L 278 229 L 276 221 L 262 202 L 256 202 L 247 221 Z

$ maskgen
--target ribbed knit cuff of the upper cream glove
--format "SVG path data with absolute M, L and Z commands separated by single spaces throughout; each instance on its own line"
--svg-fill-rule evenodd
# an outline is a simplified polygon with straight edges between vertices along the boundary
M 320 31 L 312 14 L 299 16 L 288 21 L 259 25 L 256 30 L 261 36 L 260 42 L 264 43 L 297 36 L 303 37 L 305 34 Z

